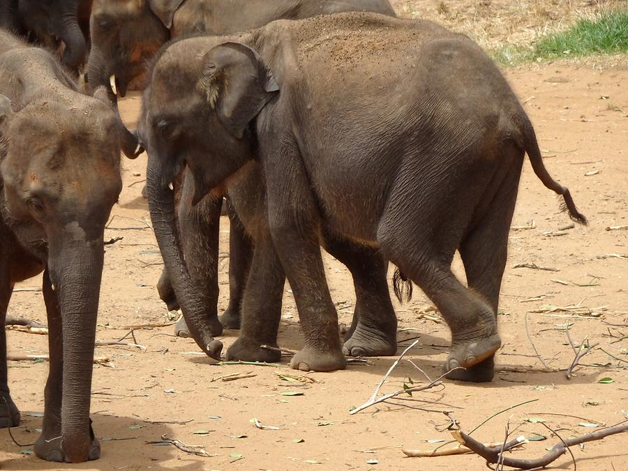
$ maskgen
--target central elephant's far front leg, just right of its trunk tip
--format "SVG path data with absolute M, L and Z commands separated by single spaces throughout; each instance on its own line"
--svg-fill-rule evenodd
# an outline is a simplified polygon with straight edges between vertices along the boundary
M 242 300 L 240 336 L 227 349 L 227 359 L 267 362 L 281 359 L 278 349 L 269 350 L 262 345 L 277 347 L 284 285 L 285 274 L 272 241 L 268 235 L 257 237 Z

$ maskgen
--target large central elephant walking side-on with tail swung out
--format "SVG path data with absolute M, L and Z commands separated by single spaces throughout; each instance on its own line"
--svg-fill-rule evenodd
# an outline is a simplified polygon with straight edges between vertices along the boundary
M 170 182 L 186 165 L 195 203 L 220 186 L 230 192 L 251 162 L 262 168 L 267 223 L 255 235 L 241 334 L 227 357 L 268 356 L 264 326 L 274 329 L 279 310 L 249 300 L 274 299 L 285 274 L 305 336 L 291 366 L 345 367 L 320 255 L 331 234 L 376 249 L 430 297 L 451 329 L 444 369 L 466 368 L 449 377 L 491 380 L 525 153 L 569 215 L 586 222 L 546 171 L 495 64 L 431 22 L 345 13 L 181 40 L 154 65 L 142 122 L 151 218 L 175 292 L 192 295 L 178 296 L 184 313 L 200 303 L 177 244 Z M 456 249 L 468 287 L 451 272 Z

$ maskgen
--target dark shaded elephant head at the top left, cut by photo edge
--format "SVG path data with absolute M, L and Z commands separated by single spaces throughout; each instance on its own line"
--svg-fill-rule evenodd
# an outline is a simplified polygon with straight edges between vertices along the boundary
M 20 20 L 31 36 L 53 50 L 63 43 L 61 58 L 78 68 L 87 55 L 87 41 L 79 26 L 79 8 L 91 0 L 19 0 Z

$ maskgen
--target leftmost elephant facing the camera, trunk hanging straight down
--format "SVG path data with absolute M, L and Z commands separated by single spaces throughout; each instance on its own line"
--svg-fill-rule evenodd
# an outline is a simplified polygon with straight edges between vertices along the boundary
M 13 285 L 41 271 L 50 373 L 35 452 L 96 459 L 92 359 L 103 231 L 122 182 L 122 125 L 80 94 L 54 58 L 0 33 L 0 426 L 20 414 L 9 395 L 4 322 Z

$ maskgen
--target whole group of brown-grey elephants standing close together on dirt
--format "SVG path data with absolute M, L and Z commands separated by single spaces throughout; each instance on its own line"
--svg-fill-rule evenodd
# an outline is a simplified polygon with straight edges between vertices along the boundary
M 56 3 L 68 24 L 80 9 L 69 15 L 65 6 L 81 2 L 41 3 Z M 546 171 L 530 120 L 479 46 L 398 19 L 386 0 L 88 3 L 87 60 L 61 33 L 49 52 L 0 29 L 0 427 L 20 421 L 8 389 L 8 302 L 15 283 L 43 271 L 50 373 L 35 452 L 49 461 L 100 456 L 91 361 L 121 151 L 147 151 L 160 297 L 181 307 L 179 330 L 209 356 L 220 358 L 214 337 L 225 326 L 240 329 L 228 359 L 279 359 L 266 346 L 278 346 L 286 278 L 305 339 L 292 368 L 333 371 L 345 355 L 395 354 L 391 262 L 396 293 L 417 284 L 451 329 L 447 376 L 493 378 L 525 154 L 569 216 L 586 218 Z M 21 4 L 0 1 L 0 24 L 18 33 L 8 15 Z M 130 131 L 117 96 L 140 80 Z M 219 320 L 223 197 L 230 305 Z M 321 247 L 354 281 L 344 342 Z M 456 251 L 467 285 L 451 272 Z

